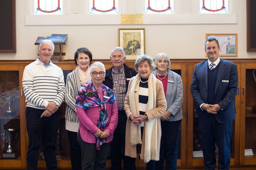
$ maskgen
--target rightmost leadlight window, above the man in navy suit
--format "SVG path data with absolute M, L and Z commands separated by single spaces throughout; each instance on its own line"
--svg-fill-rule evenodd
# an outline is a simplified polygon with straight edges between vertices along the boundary
M 201 14 L 227 14 L 228 0 L 200 0 Z

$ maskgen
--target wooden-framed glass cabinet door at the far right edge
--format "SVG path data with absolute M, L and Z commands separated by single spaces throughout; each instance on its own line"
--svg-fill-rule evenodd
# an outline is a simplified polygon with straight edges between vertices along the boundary
M 256 65 L 245 64 L 241 81 L 240 164 L 256 164 Z

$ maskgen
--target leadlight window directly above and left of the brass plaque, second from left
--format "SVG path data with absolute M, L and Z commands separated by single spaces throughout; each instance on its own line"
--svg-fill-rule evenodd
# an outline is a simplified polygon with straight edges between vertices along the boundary
M 118 14 L 118 0 L 90 0 L 90 14 Z

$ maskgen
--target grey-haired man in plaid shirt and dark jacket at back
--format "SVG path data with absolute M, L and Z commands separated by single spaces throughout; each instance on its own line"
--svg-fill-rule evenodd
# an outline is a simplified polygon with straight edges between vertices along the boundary
M 113 66 L 106 71 L 105 81 L 103 82 L 104 85 L 113 90 L 118 108 L 118 124 L 111 142 L 111 170 L 121 170 L 121 159 L 123 158 L 124 167 L 125 160 L 128 159 L 128 157 L 124 156 L 127 120 L 124 101 L 129 81 L 131 77 L 137 74 L 137 71 L 125 65 L 125 59 L 125 51 L 121 47 L 116 47 L 111 51 L 110 60 Z

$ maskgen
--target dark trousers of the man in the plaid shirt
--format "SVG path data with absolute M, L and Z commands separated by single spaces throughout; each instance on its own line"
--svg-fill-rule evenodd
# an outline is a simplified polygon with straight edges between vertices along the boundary
M 125 111 L 118 111 L 118 123 L 111 141 L 111 170 L 121 170 L 121 160 L 125 163 L 125 127 L 127 116 Z

